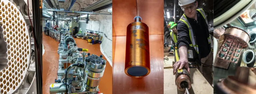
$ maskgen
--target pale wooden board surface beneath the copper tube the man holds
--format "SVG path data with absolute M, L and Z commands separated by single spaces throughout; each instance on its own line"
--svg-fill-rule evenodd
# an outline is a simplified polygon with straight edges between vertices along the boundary
M 213 94 L 213 87 L 207 82 L 198 69 L 190 69 L 190 77 L 192 86 L 189 90 L 190 94 Z M 171 92 L 171 93 L 170 93 Z M 164 69 L 164 94 L 184 94 L 179 91 L 175 84 L 175 75 L 173 69 Z

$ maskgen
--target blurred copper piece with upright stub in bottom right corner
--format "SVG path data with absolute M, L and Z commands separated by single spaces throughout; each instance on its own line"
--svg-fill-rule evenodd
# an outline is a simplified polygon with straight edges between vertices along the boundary
M 251 68 L 237 67 L 235 76 L 220 79 L 217 86 L 226 94 L 255 94 L 256 79 L 255 76 L 250 78 L 252 71 Z

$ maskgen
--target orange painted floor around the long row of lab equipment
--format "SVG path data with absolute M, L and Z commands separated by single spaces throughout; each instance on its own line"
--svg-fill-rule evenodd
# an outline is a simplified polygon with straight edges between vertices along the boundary
M 100 51 L 100 44 L 90 45 L 87 43 L 87 40 L 75 38 L 77 47 L 88 49 L 87 53 L 94 54 L 97 56 L 103 55 Z M 58 60 L 59 54 L 58 45 L 59 43 L 55 41 L 50 36 L 43 34 L 43 45 L 44 45 L 44 55 L 43 55 L 43 94 L 50 94 L 50 84 L 54 83 L 54 79 L 57 79 L 58 71 Z M 103 59 L 107 59 L 103 56 Z M 100 92 L 103 94 L 112 94 L 112 67 L 109 62 L 106 63 L 106 68 L 103 74 L 103 77 L 100 79 L 99 84 Z

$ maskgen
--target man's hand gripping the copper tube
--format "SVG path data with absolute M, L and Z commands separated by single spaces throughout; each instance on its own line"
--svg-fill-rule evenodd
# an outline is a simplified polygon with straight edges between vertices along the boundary
M 177 72 L 177 69 L 181 70 L 183 67 L 185 67 L 188 70 L 188 73 L 190 74 L 190 69 L 188 66 L 188 60 L 187 59 L 180 59 L 173 65 L 173 75 Z

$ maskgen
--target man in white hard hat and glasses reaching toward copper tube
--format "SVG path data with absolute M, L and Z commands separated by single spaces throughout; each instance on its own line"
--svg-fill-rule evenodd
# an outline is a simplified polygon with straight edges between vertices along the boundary
M 196 54 L 192 56 L 196 62 L 196 68 L 212 84 L 213 53 L 206 14 L 203 9 L 197 9 L 196 0 L 178 1 L 184 14 L 177 23 L 180 60 L 173 65 L 173 74 L 183 67 L 190 73 L 188 62 L 192 61 L 188 59 L 188 52 L 193 51 Z

